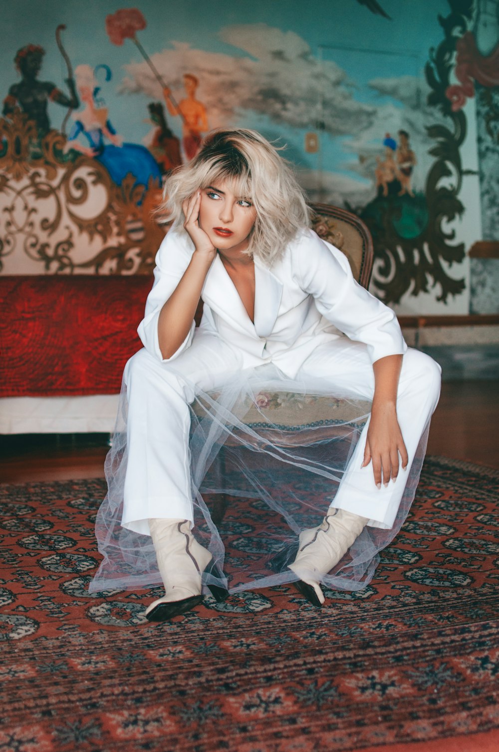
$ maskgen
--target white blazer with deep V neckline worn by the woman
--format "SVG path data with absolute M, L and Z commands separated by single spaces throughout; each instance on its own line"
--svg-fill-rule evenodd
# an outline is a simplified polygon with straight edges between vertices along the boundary
M 159 360 L 170 362 L 192 342 L 195 324 L 171 358 L 159 349 L 158 319 L 189 265 L 194 244 L 186 232 L 168 232 L 156 255 L 154 284 L 138 335 Z M 204 281 L 201 328 L 218 334 L 240 352 L 243 368 L 274 362 L 294 378 L 317 345 L 342 333 L 367 345 L 371 362 L 404 353 L 401 328 L 393 311 L 355 282 L 346 259 L 313 230 L 304 230 L 282 259 L 266 267 L 255 257 L 255 323 L 244 308 L 219 256 Z

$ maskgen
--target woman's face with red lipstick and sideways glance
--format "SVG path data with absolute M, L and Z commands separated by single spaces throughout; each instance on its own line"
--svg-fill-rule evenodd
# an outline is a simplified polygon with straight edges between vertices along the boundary
M 201 189 L 199 226 L 222 253 L 245 250 L 255 220 L 255 207 L 234 193 L 231 180 L 216 180 L 216 185 Z

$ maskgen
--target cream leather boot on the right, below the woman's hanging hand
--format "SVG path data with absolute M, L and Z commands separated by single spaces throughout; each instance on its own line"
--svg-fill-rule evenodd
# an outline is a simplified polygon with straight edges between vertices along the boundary
M 331 508 L 319 527 L 300 533 L 298 553 L 289 569 L 300 578 L 293 584 L 313 605 L 324 603 L 320 576 L 331 572 L 367 522 L 366 517 Z

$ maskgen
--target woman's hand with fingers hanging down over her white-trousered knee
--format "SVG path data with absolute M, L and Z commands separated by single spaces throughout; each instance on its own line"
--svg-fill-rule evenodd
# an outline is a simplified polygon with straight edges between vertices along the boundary
M 362 467 L 373 462 L 374 483 L 378 488 L 381 488 L 382 480 L 385 487 L 388 486 L 390 478 L 395 483 L 400 465 L 399 455 L 402 468 L 405 470 L 409 458 L 398 425 L 395 405 L 376 405 L 373 402 Z

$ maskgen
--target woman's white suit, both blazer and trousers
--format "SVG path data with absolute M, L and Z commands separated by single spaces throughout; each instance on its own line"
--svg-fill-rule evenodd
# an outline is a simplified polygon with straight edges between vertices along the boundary
M 138 327 L 145 350 L 126 365 L 129 464 L 123 526 L 147 534 L 152 517 L 192 520 L 187 405 L 197 387 L 213 389 L 234 371 L 269 362 L 305 383 L 328 378 L 331 394 L 372 399 L 371 364 L 406 353 L 398 420 L 412 462 L 437 404 L 440 369 L 423 353 L 407 350 L 395 314 L 355 282 L 340 250 L 307 230 L 271 269 L 256 258 L 254 324 L 216 256 L 201 293 L 200 328 L 195 330 L 192 323 L 177 352 L 163 359 L 159 313 L 193 250 L 188 235 L 176 229 L 162 242 L 153 289 Z M 367 426 L 334 507 L 367 517 L 371 526 L 391 528 L 407 476 L 400 472 L 395 483 L 377 489 L 372 467 L 361 470 L 366 430 Z

